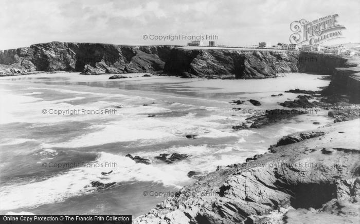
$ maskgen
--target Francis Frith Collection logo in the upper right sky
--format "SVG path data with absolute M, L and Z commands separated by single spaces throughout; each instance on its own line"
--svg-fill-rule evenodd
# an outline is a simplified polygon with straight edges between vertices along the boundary
M 328 15 L 308 22 L 305 19 L 290 25 L 293 34 L 290 43 L 299 45 L 319 45 L 331 39 L 343 37 L 344 26 L 337 22 L 338 14 Z

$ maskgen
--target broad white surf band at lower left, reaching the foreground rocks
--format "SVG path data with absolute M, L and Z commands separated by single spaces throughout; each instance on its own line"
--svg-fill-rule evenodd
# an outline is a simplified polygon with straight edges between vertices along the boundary
M 105 163 L 114 163 L 117 167 L 104 167 Z M 184 179 L 188 179 L 186 173 L 176 169 L 164 169 L 163 167 L 136 164 L 129 157 L 100 153 L 98 159 L 92 162 L 94 165 L 84 165 L 73 168 L 64 173 L 48 179 L 30 182 L 27 184 L 0 187 L 0 210 L 13 210 L 20 208 L 35 208 L 48 203 L 64 201 L 66 198 L 91 194 L 97 189 L 91 186 L 92 181 L 109 182 L 128 181 L 153 181 L 163 183 L 165 186 L 180 188 Z M 97 168 L 96 164 L 103 167 Z M 91 167 L 93 166 L 93 167 Z M 111 174 L 101 175 L 101 172 Z M 184 177 L 179 180 L 179 177 Z

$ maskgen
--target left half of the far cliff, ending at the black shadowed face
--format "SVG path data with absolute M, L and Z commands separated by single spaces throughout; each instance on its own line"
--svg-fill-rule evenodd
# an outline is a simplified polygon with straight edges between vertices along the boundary
M 159 72 L 172 46 L 51 42 L 0 52 L 0 75 L 36 71 L 83 74 Z

